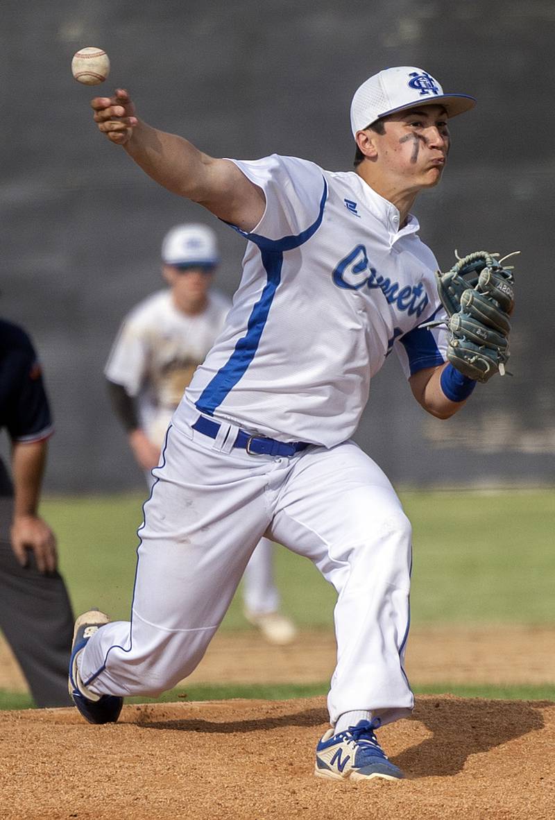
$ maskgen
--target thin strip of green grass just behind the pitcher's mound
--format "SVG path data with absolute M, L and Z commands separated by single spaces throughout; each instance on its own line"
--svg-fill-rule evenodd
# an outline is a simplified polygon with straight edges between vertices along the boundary
M 176 703 L 182 700 L 228 700 L 247 698 L 261 700 L 288 700 L 291 698 L 324 697 L 327 683 L 271 685 L 271 686 L 212 686 L 197 685 L 164 692 L 160 698 L 126 698 L 126 704 Z M 544 686 L 461 686 L 449 683 L 416 686 L 416 695 L 457 695 L 461 698 L 498 698 L 503 700 L 549 700 L 555 702 L 555 685 Z M 30 695 L 0 690 L 0 710 L 34 708 Z

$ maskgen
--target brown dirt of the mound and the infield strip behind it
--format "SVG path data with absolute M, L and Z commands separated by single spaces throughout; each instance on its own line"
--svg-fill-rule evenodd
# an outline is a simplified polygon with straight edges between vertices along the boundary
M 555 630 L 414 630 L 413 683 L 555 680 Z M 3 663 L 2 663 L 3 661 Z M 289 647 L 257 633 L 216 635 L 190 683 L 329 678 L 334 638 Z M 0 645 L 0 687 L 25 681 Z M 546 818 L 555 805 L 555 704 L 421 696 L 410 720 L 380 730 L 401 783 L 313 776 L 325 699 L 125 706 L 116 726 L 75 709 L 0 713 L 2 820 L 497 820 Z

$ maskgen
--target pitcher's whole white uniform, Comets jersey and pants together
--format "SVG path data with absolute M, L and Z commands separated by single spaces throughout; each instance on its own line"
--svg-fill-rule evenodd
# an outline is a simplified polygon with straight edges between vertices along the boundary
M 337 591 L 330 722 L 366 710 L 387 723 L 413 704 L 403 669 L 411 527 L 380 467 L 348 438 L 391 349 L 407 375 L 444 362 L 446 331 L 421 327 L 436 312 L 444 319 L 436 262 L 416 219 L 400 228 L 398 209 L 355 173 L 277 156 L 237 165 L 264 190 L 266 211 L 240 231 L 250 241 L 239 290 L 152 471 L 133 640 L 130 623 L 103 626 L 80 675 L 98 695 L 176 686 L 266 534 Z M 216 437 L 201 414 L 220 419 Z M 252 455 L 234 447 L 237 425 L 322 446 Z

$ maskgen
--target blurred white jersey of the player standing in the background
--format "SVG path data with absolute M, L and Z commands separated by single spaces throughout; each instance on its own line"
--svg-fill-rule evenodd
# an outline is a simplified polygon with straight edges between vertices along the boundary
M 138 402 L 139 422 L 161 446 L 195 368 L 224 325 L 230 301 L 216 290 L 197 316 L 181 312 L 170 289 L 148 296 L 125 317 L 105 368 Z

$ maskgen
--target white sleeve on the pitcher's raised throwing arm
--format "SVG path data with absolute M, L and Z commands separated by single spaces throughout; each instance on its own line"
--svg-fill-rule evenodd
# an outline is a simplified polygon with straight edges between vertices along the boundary
M 321 217 L 327 184 L 324 172 L 314 162 L 272 154 L 259 160 L 231 162 L 264 192 L 266 208 L 250 234 L 271 241 L 303 235 Z

